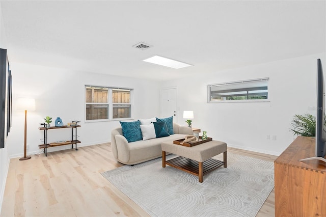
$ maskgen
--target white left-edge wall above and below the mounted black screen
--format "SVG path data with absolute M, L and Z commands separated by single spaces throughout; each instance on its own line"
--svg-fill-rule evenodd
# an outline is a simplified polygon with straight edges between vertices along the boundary
M 5 25 L 2 18 L 2 10 L 0 3 L 0 48 L 7 49 L 7 39 L 5 34 Z M 0 149 L 0 213 L 1 204 L 4 198 L 6 178 L 9 168 L 9 153 L 7 142 L 5 148 Z

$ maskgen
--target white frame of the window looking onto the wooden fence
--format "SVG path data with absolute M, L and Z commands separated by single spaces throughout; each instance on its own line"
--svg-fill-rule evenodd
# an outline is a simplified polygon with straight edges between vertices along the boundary
M 105 88 L 107 89 L 107 103 L 106 102 L 86 102 L 86 89 L 88 87 L 92 88 Z M 130 103 L 113 103 L 112 101 L 112 90 L 113 89 L 121 89 L 121 90 L 129 90 L 130 91 Z M 125 87 L 112 87 L 112 86 L 101 86 L 101 85 L 84 85 L 84 103 L 85 103 L 85 123 L 91 123 L 91 122 L 103 122 L 103 121 L 121 121 L 121 120 L 132 120 L 133 119 L 133 88 L 125 88 Z M 93 120 L 87 120 L 87 105 L 108 105 L 107 109 L 107 119 L 93 119 Z M 130 105 L 130 117 L 128 118 L 113 118 L 113 105 L 114 104 L 128 104 Z

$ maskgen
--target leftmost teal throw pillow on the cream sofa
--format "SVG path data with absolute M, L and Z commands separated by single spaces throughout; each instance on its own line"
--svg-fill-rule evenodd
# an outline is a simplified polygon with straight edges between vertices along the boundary
M 127 139 L 129 143 L 143 140 L 141 122 L 122 122 L 120 121 L 122 127 L 122 134 Z

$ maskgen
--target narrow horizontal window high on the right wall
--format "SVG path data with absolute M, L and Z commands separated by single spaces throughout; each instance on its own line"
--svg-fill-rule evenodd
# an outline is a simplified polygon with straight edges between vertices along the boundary
M 267 101 L 269 78 L 207 85 L 207 102 Z

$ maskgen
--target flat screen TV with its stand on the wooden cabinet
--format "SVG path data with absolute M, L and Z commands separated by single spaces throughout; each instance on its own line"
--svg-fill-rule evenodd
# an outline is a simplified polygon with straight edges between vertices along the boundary
M 316 151 L 314 157 L 304 160 L 322 160 L 326 162 L 326 126 L 325 126 L 325 86 L 322 65 L 317 60 L 317 105 L 316 105 Z

